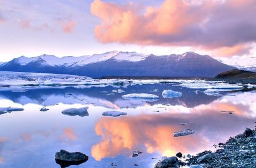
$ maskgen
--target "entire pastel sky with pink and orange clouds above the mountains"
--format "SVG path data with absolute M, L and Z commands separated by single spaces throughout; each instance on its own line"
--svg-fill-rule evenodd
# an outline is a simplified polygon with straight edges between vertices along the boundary
M 255 0 L 0 0 L 0 62 L 112 50 L 243 62 L 256 57 L 255 16 Z

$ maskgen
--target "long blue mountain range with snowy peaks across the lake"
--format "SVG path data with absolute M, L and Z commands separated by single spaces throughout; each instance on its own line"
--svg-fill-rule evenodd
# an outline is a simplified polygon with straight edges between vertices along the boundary
M 19 57 L 0 65 L 0 71 L 104 76 L 212 77 L 235 69 L 209 55 L 186 52 L 181 55 L 143 55 L 136 52 L 107 52 L 81 57 Z

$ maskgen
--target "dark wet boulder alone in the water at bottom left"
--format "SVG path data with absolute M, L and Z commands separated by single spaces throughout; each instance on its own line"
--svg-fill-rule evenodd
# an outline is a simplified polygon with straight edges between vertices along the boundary
M 61 167 L 68 167 L 69 165 L 79 165 L 83 164 L 88 160 L 88 156 L 81 152 L 68 152 L 65 150 L 60 150 L 55 154 L 55 161 L 60 164 Z

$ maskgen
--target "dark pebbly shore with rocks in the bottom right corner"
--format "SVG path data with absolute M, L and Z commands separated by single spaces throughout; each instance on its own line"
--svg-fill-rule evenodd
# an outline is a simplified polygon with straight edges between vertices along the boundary
M 165 157 L 155 165 L 155 168 L 170 167 L 256 167 L 256 129 L 246 129 L 243 134 L 230 137 L 226 143 L 219 143 L 216 151 L 203 151 L 179 160 L 177 157 Z M 178 155 L 179 154 L 179 155 Z

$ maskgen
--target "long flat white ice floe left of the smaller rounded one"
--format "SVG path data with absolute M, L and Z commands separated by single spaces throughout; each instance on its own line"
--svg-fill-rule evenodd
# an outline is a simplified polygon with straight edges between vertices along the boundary
M 159 96 L 154 94 L 127 94 L 122 96 L 124 99 L 136 100 L 136 101 L 157 101 Z

